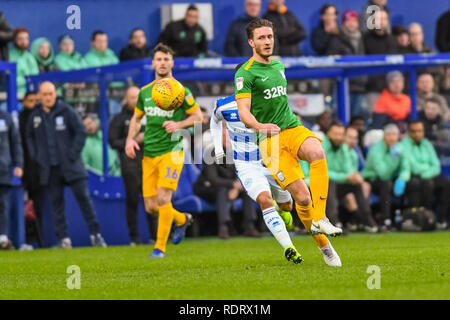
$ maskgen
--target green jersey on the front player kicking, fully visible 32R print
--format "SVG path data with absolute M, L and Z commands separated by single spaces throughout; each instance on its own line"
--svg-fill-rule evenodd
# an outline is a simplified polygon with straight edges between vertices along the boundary
M 234 80 L 236 100 L 251 98 L 250 112 L 258 122 L 276 124 L 281 130 L 301 125 L 289 107 L 284 65 L 280 61 L 272 59 L 265 64 L 250 59 L 239 68 Z

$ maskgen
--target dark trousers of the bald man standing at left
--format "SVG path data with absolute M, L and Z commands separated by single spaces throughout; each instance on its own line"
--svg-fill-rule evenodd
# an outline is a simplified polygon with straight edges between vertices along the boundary
M 50 179 L 47 187 L 50 204 L 52 207 L 53 223 L 56 229 L 56 236 L 59 239 L 68 237 L 67 221 L 64 206 L 64 187 L 68 185 L 78 202 L 91 235 L 100 232 L 97 222 L 97 216 L 94 211 L 87 179 L 78 179 L 67 183 L 59 166 L 52 166 L 50 171 Z

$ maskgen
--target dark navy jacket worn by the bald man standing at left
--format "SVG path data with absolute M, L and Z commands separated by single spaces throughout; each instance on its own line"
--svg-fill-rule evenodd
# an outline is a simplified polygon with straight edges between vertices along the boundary
M 51 108 L 49 121 L 43 107 L 36 106 L 27 122 L 28 152 L 39 164 L 41 185 L 47 185 L 50 177 L 46 126 L 51 126 L 55 132 L 57 156 L 65 180 L 70 183 L 87 178 L 80 155 L 86 140 L 85 127 L 75 110 L 58 99 Z

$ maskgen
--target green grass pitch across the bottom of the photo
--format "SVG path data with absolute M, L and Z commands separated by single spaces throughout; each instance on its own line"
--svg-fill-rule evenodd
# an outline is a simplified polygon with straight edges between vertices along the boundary
M 351 234 L 332 239 L 343 266 L 325 265 L 309 236 L 294 244 L 294 265 L 272 237 L 188 238 L 152 247 L 0 252 L 0 299 L 449 299 L 450 232 Z M 66 285 L 67 267 L 80 267 L 79 290 Z M 370 265 L 380 289 L 369 290 Z

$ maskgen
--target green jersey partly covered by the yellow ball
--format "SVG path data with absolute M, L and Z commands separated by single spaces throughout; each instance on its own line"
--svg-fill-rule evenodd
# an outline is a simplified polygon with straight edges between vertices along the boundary
M 176 110 L 163 110 L 159 108 L 152 99 L 152 88 L 155 81 L 142 87 L 139 91 L 138 102 L 135 112 L 146 116 L 145 133 L 144 133 L 144 156 L 157 157 L 171 151 L 181 151 L 182 137 L 175 136 L 172 139 L 172 133 L 167 133 L 162 126 L 164 121 L 182 121 L 186 114 L 191 114 L 198 108 L 191 91 L 185 90 L 185 98 L 183 105 Z

